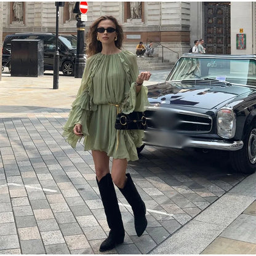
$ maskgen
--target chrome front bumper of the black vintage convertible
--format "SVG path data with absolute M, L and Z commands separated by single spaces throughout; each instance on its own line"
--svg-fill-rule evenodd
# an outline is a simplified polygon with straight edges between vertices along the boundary
M 145 145 L 164 146 L 167 148 L 207 148 L 212 150 L 236 151 L 244 146 L 242 141 L 226 142 L 223 140 L 198 139 L 181 134 L 159 130 L 146 130 L 143 139 Z

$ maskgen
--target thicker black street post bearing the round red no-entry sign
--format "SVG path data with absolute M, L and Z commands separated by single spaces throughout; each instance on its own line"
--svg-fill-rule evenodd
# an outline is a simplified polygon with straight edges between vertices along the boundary
M 84 73 L 84 30 L 86 28 L 86 23 L 81 20 L 81 11 L 79 9 L 79 2 L 76 2 L 73 12 L 76 15 L 76 28 L 78 30 L 78 45 L 76 48 L 76 63 L 74 65 L 74 78 L 82 78 Z

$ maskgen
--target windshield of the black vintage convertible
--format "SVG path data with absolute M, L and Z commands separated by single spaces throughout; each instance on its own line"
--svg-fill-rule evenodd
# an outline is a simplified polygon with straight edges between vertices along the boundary
M 256 60 L 182 57 L 167 81 L 206 78 L 256 87 Z

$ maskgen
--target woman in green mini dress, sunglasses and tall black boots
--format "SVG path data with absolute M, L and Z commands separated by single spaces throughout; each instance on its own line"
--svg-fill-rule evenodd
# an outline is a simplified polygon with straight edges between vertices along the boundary
M 145 203 L 126 174 L 127 161 L 138 159 L 136 148 L 142 146 L 143 130 L 116 130 L 114 124 L 119 112 L 144 111 L 148 100 L 147 89 L 142 84 L 151 74 L 138 74 L 135 55 L 121 50 L 122 39 L 122 27 L 112 16 L 102 16 L 90 26 L 89 58 L 70 117 L 63 127 L 63 136 L 71 146 L 75 147 L 84 136 L 84 150 L 92 150 L 98 189 L 110 227 L 100 252 L 124 241 L 113 182 L 132 206 L 138 236 L 147 225 Z M 110 157 L 113 157 L 111 174 Z

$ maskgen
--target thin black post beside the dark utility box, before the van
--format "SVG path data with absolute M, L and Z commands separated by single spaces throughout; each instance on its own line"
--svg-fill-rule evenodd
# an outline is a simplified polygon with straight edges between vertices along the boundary
M 58 89 L 58 74 L 60 72 L 60 53 L 58 52 L 58 17 L 59 7 L 64 6 L 65 2 L 55 2 L 56 6 L 56 42 L 54 53 L 54 89 Z

